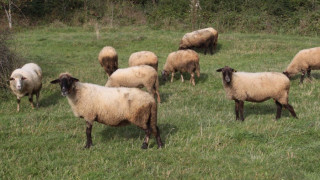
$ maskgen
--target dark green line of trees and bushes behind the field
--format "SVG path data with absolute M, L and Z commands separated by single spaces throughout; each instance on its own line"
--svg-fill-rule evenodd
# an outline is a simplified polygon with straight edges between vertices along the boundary
M 11 10 L 14 25 L 66 25 L 96 22 L 107 26 L 320 33 L 319 0 L 1 0 L 2 26 Z M 8 25 L 7 25 L 8 26 Z

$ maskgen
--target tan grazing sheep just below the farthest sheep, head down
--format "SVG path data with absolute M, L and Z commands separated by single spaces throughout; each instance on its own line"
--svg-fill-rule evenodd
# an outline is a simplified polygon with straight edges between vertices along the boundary
M 171 82 L 173 82 L 174 73 L 179 71 L 181 74 L 181 81 L 183 82 L 183 72 L 191 74 L 190 82 L 195 85 L 194 72 L 200 77 L 200 65 L 198 54 L 191 49 L 179 50 L 168 55 L 167 61 L 163 67 L 162 79 L 167 80 L 171 73 Z

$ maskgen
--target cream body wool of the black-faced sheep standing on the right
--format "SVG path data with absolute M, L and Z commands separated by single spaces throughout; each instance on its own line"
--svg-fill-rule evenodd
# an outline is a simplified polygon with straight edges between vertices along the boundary
M 288 104 L 290 80 L 282 73 L 235 72 L 231 84 L 223 81 L 227 98 L 251 102 L 262 102 L 270 98 Z

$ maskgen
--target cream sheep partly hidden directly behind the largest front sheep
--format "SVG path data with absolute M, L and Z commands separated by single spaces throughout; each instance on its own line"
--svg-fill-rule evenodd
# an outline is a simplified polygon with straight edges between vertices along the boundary
M 106 87 L 146 87 L 148 92 L 157 95 L 160 103 L 157 71 L 148 65 L 133 66 L 116 70 L 109 78 Z

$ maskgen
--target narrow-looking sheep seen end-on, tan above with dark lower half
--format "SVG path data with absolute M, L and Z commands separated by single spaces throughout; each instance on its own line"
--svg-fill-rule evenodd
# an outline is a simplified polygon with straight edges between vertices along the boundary
M 104 47 L 98 56 L 100 65 L 106 71 L 108 77 L 118 69 L 118 54 L 111 46 Z

